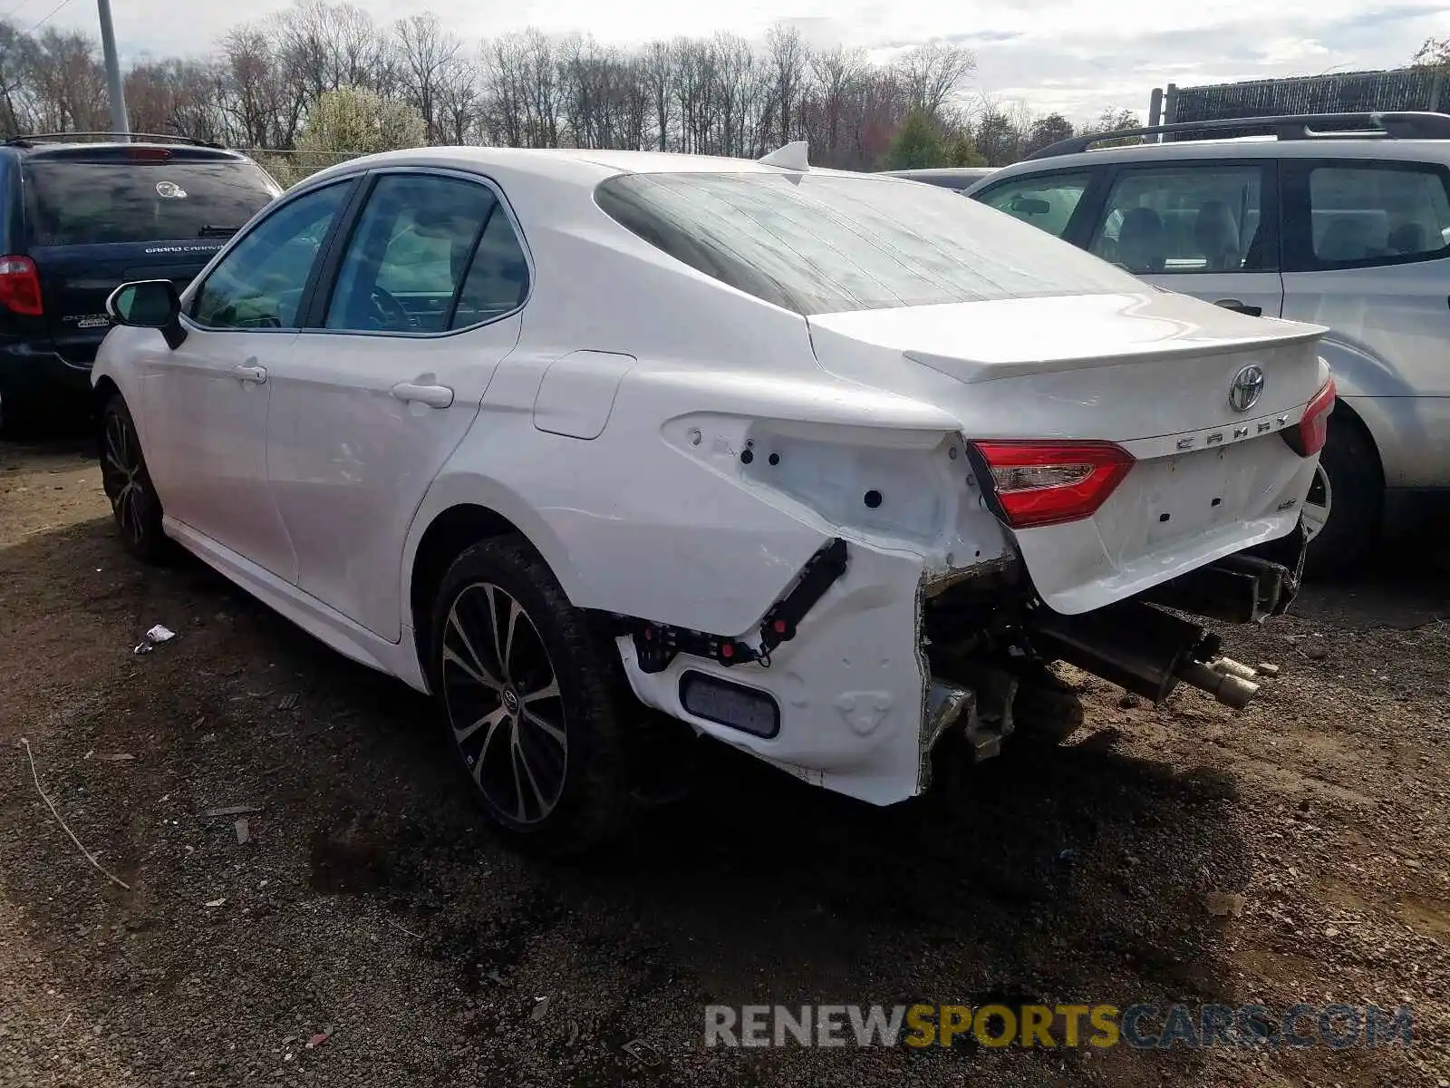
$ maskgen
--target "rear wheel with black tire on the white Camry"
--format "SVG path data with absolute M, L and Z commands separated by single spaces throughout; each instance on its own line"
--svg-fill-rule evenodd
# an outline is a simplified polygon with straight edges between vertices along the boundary
M 489 821 L 550 854 L 615 836 L 629 776 L 610 646 L 528 543 L 486 540 L 454 560 L 431 646 L 448 737 Z

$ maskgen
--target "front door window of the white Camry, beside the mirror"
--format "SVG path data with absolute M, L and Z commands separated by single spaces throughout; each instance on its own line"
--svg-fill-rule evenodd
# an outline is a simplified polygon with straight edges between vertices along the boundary
M 281 205 L 220 260 L 197 290 L 191 318 L 218 329 L 294 329 L 318 250 L 351 183 Z

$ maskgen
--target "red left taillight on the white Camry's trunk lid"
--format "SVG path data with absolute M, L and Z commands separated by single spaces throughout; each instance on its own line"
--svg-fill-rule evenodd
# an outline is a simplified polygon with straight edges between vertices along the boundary
M 992 476 L 998 514 L 1012 528 L 1090 518 L 1132 469 L 1112 442 L 973 442 Z

